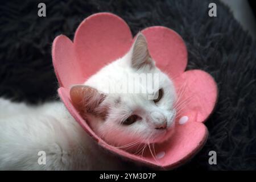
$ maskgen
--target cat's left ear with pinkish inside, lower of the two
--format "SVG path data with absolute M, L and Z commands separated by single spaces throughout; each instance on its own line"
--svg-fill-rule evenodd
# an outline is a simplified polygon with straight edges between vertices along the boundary
M 73 105 L 80 113 L 90 113 L 96 116 L 105 117 L 106 110 L 100 107 L 106 96 L 90 86 L 75 85 L 70 90 L 70 97 Z

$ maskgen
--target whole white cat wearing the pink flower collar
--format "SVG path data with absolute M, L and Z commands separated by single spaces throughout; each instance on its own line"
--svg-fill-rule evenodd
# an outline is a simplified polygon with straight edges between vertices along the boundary
M 134 73 L 157 74 L 157 90 L 143 81 L 127 82 L 147 93 L 109 92 Z M 106 65 L 83 85 L 70 91 L 71 100 L 94 132 L 113 146 L 126 150 L 157 143 L 174 130 L 176 93 L 170 78 L 152 60 L 146 39 L 138 34 L 130 51 Z M 155 100 L 148 99 L 155 94 Z M 77 124 L 62 102 L 39 106 L 0 99 L 0 169 L 71 170 L 125 169 L 121 159 L 97 146 Z M 127 146 L 127 148 L 125 148 Z M 127 149 L 128 150 L 128 149 Z M 39 164 L 39 151 L 46 163 Z

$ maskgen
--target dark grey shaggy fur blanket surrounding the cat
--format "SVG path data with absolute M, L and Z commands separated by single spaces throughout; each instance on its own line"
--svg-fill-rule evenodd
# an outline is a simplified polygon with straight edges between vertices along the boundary
M 38 3 L 47 6 L 40 18 Z M 210 2 L 217 17 L 208 16 Z M 256 42 L 218 1 L 5 1 L 0 5 L 0 96 L 36 103 L 57 99 L 51 44 L 73 39 L 79 23 L 93 13 L 121 16 L 135 35 L 154 25 L 178 32 L 188 48 L 187 69 L 203 69 L 216 80 L 219 97 L 206 122 L 209 139 L 182 169 L 256 169 Z M 217 152 L 217 165 L 208 152 Z

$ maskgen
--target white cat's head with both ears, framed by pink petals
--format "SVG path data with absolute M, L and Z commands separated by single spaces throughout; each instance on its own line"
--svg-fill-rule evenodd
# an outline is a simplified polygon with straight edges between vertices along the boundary
M 142 34 L 125 56 L 70 94 L 94 132 L 114 146 L 163 142 L 174 130 L 174 85 L 155 66 Z

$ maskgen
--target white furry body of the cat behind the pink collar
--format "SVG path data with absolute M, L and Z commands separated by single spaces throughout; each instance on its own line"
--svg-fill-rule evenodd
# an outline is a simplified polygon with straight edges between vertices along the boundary
M 39 106 L 0 99 L 0 170 L 125 169 L 102 150 L 62 102 Z M 42 154 L 46 152 L 46 164 Z

